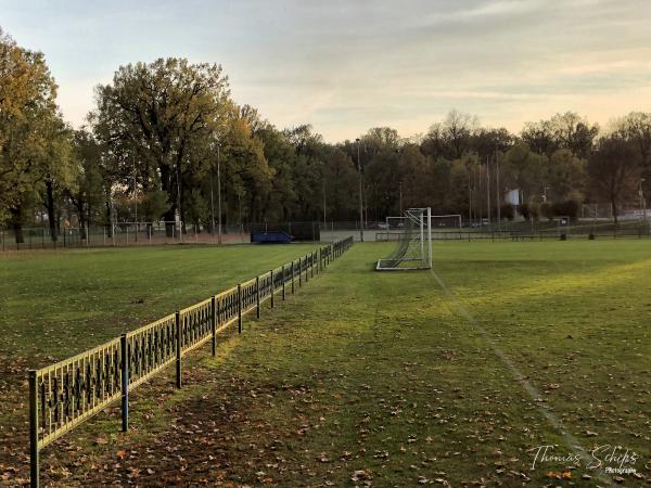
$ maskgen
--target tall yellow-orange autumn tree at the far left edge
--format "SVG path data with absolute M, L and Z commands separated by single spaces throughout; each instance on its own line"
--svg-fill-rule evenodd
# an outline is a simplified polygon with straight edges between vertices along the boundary
M 17 242 L 41 201 L 55 239 L 54 192 L 74 181 L 69 130 L 55 99 L 43 54 L 0 30 L 0 222 L 11 219 Z

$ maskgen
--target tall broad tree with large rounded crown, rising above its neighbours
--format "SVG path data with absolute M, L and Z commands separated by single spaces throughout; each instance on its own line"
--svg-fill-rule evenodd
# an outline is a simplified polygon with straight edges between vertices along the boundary
M 143 189 L 155 183 L 168 195 L 165 219 L 174 220 L 178 210 L 183 220 L 179 204 L 192 189 L 184 189 L 182 176 L 207 170 L 197 159 L 233 117 L 221 66 L 176 57 L 129 64 L 119 67 L 112 84 L 98 87 L 97 95 L 93 128 L 114 174 L 130 184 L 137 162 Z

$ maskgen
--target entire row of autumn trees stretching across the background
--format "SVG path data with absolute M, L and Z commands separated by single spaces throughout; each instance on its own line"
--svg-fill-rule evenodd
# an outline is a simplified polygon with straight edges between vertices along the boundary
M 120 66 L 78 130 L 55 99 L 43 55 L 0 31 L 0 224 L 17 235 L 40 221 L 55 239 L 72 217 L 87 227 L 178 216 L 210 229 L 218 179 L 225 223 L 355 220 L 359 169 L 369 220 L 412 206 L 512 217 L 512 189 L 526 218 L 584 202 L 609 202 L 616 215 L 642 179 L 651 184 L 644 113 L 608 132 L 557 114 L 513 134 L 451 111 L 425 134 L 382 127 L 330 144 L 308 125 L 277 129 L 232 101 L 219 65 L 183 59 Z

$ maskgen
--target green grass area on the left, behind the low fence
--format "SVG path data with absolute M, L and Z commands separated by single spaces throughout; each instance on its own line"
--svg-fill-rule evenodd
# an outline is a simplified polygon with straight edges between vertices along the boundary
M 0 254 L 3 355 L 63 359 L 303 256 L 312 245 Z M 1 368 L 1 367 L 0 367 Z

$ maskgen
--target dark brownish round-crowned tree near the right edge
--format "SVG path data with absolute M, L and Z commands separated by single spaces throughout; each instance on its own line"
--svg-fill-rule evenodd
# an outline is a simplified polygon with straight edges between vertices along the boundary
M 610 202 L 615 223 L 620 204 L 639 184 L 640 169 L 634 144 L 618 134 L 599 140 L 588 160 L 592 193 Z

